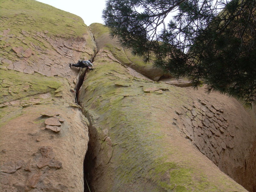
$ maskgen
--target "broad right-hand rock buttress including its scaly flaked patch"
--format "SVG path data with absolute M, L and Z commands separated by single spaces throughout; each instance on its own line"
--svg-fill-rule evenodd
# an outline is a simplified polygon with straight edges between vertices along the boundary
M 91 190 L 246 191 L 232 177 L 253 191 L 256 132 L 244 108 L 218 93 L 139 78 L 109 46 L 101 44 L 79 91 L 90 121 Z

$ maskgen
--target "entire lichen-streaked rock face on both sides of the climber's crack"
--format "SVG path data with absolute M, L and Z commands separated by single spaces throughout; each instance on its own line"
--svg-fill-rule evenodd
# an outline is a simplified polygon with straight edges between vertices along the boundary
M 0 9 L 0 191 L 81 192 L 83 166 L 92 192 L 255 191 L 255 111 L 173 82 L 101 24 L 33 0 Z

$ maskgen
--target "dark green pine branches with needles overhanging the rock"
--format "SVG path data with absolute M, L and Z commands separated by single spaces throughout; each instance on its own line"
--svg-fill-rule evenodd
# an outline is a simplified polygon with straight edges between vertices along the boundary
M 255 0 L 108 0 L 110 35 L 194 88 L 256 103 Z M 172 18 L 170 18 L 172 15 Z M 166 23 L 166 20 L 170 18 Z

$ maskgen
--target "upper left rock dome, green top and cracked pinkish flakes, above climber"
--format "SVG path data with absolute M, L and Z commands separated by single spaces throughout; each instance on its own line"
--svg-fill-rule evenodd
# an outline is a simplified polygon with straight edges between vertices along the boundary
M 40 61 L 45 65 L 41 71 L 46 71 L 41 74 L 48 75 L 47 69 L 61 57 L 65 62 L 74 55 L 84 59 L 96 52 L 92 34 L 80 17 L 35 0 L 1 1 L 0 22 L 0 66 L 33 73 L 38 72 L 35 62 Z

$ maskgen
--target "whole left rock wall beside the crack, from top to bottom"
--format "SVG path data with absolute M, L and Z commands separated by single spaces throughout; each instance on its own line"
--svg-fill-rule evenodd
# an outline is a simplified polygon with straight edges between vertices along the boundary
M 1 192 L 83 191 L 88 127 L 72 106 L 77 70 L 68 62 L 95 52 L 81 18 L 33 0 L 1 1 Z

